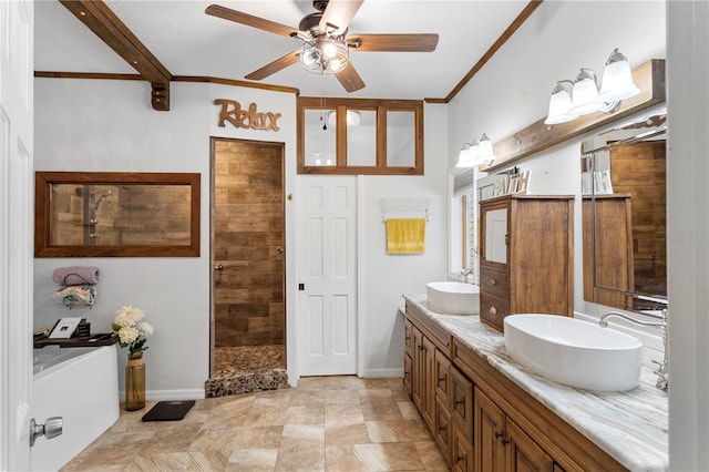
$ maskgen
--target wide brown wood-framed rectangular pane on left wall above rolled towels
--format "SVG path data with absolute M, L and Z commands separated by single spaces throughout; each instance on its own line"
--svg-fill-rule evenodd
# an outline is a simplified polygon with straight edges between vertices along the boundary
M 199 174 L 37 172 L 35 257 L 198 257 Z

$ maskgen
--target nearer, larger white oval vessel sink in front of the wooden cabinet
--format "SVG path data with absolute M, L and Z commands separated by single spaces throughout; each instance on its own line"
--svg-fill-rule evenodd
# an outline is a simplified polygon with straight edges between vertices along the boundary
M 643 343 L 631 336 L 556 315 L 504 319 L 507 355 L 569 387 L 626 391 L 640 383 Z

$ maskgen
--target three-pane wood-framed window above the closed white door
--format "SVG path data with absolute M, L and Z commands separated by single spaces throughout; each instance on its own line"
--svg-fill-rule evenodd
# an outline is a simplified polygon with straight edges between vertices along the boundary
M 299 174 L 423 174 L 420 100 L 298 99 Z

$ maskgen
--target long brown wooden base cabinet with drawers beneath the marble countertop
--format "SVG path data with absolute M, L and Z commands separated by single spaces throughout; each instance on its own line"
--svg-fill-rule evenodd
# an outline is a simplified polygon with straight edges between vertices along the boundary
M 453 471 L 626 470 L 409 301 L 404 327 L 404 382 Z

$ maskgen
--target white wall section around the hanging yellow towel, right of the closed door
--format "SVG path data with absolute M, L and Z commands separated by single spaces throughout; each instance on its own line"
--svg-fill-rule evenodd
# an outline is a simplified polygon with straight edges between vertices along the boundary
M 361 374 L 403 374 L 403 294 L 424 294 L 425 284 L 445 280 L 446 264 L 446 143 L 444 105 L 424 106 L 424 175 L 360 177 L 360 299 L 363 352 Z M 431 216 L 425 229 L 425 252 L 421 255 L 387 254 L 383 197 L 428 197 Z

